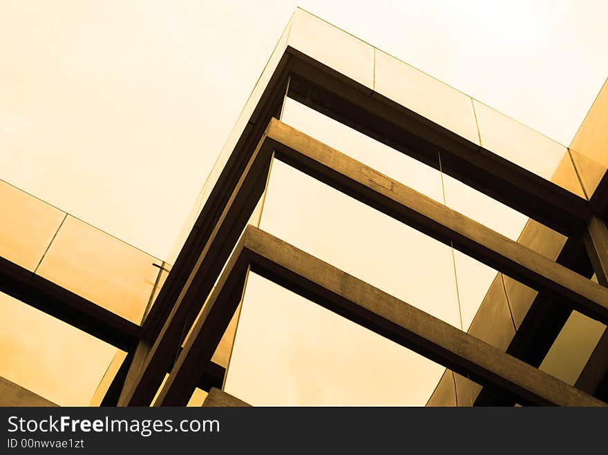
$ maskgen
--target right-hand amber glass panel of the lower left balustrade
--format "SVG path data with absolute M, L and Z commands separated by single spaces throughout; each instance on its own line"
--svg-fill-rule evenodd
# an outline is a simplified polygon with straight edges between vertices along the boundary
M 68 215 L 38 274 L 136 324 L 159 274 L 158 260 Z

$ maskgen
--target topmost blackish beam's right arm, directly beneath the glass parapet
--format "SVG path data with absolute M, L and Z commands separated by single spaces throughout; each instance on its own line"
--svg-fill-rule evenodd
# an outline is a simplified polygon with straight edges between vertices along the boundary
M 591 215 L 582 197 L 374 93 L 370 96 L 301 53 L 293 54 L 289 97 L 442 171 L 564 235 Z

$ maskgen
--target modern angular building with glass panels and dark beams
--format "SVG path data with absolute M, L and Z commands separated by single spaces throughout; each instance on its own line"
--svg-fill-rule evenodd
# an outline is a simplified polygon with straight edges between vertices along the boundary
M 0 404 L 606 405 L 607 166 L 296 10 L 172 258 L 0 186 Z

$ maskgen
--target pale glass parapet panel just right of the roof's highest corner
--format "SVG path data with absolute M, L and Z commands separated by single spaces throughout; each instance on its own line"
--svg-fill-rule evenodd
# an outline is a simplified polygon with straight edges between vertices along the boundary
M 373 87 L 374 48 L 310 12 L 296 9 L 288 44 L 359 84 Z

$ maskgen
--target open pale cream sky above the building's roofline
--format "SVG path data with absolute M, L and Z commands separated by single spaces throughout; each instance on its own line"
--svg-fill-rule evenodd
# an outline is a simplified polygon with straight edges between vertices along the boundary
M 608 75 L 604 1 L 4 0 L 0 178 L 165 258 L 298 5 L 564 144 Z

